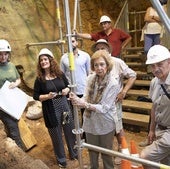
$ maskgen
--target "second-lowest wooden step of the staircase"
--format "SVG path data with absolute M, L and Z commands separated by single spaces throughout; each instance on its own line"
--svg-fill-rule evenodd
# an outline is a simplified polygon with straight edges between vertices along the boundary
M 136 110 L 150 111 L 152 108 L 152 103 L 125 99 L 122 102 L 122 106 L 123 106 L 123 108 L 131 108 L 131 109 L 136 109 Z

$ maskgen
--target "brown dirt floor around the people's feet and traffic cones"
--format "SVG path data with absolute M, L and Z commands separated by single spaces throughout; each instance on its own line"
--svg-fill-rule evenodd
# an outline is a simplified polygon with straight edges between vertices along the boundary
M 49 138 L 47 129 L 44 126 L 43 118 L 40 118 L 38 120 L 29 120 L 25 117 L 23 117 L 25 122 L 27 123 L 28 127 L 30 128 L 32 134 L 34 135 L 35 139 L 37 140 L 37 145 L 34 146 L 32 149 L 30 149 L 27 154 L 35 159 L 42 160 L 50 169 L 58 169 L 58 165 L 53 153 L 53 148 L 51 145 L 51 140 Z M 138 145 L 139 142 L 143 141 L 146 138 L 146 132 L 140 131 L 140 132 L 130 132 L 128 130 L 125 130 L 126 133 L 126 139 L 128 142 L 128 145 L 130 145 L 131 140 L 135 140 L 136 145 Z M 116 139 L 114 139 L 114 147 L 117 149 L 117 142 Z M 67 148 L 65 147 L 66 152 Z M 141 151 L 141 147 L 138 147 L 138 151 Z M 68 156 L 68 154 L 67 154 Z M 83 166 L 84 168 L 88 168 L 89 165 L 89 158 L 88 158 L 88 151 L 86 149 L 82 149 L 82 158 L 83 158 Z M 79 163 L 78 161 L 70 161 L 69 158 L 67 160 L 68 169 L 78 169 Z M 101 168 L 102 164 L 100 162 Z M 119 169 L 119 166 L 115 166 L 116 169 Z

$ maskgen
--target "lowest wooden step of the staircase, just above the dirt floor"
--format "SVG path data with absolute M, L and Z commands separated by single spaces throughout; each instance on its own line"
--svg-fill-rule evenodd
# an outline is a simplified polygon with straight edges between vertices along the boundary
M 149 115 L 123 112 L 123 123 L 137 125 L 148 128 Z

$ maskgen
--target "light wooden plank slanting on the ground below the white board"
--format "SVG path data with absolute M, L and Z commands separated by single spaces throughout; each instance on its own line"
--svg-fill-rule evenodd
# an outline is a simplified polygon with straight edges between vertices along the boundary
M 37 144 L 37 141 L 22 118 L 19 120 L 18 126 L 20 130 L 21 139 L 24 143 L 26 151 L 28 151 Z

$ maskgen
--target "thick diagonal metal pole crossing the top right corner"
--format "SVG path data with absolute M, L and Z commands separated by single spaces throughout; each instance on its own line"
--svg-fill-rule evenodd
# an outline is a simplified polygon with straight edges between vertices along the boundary
M 161 21 L 164 23 L 165 27 L 167 28 L 168 32 L 170 33 L 170 20 L 167 16 L 167 14 L 165 13 L 165 11 L 163 10 L 159 0 L 150 0 L 153 7 L 156 9 L 156 11 L 158 12 Z

